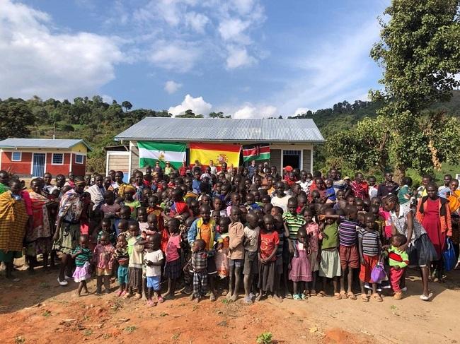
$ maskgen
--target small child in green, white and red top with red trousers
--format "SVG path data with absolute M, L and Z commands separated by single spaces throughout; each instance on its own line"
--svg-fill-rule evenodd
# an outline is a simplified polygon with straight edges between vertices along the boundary
M 391 237 L 391 247 L 389 252 L 389 265 L 390 265 L 390 283 L 394 292 L 394 299 L 402 299 L 403 293 L 401 292 L 401 278 L 404 275 L 409 264 L 409 256 L 406 251 L 399 249 L 403 244 L 406 244 L 407 238 L 405 235 L 396 234 Z

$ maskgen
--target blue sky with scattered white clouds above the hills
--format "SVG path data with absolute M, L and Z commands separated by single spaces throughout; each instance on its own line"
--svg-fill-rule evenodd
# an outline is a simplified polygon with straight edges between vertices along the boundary
M 0 0 L 0 98 L 101 95 L 173 115 L 367 100 L 389 0 Z

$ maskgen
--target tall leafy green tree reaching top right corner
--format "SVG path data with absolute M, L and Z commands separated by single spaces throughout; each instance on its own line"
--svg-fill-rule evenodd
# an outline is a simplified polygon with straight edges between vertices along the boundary
M 439 153 L 432 137 L 436 131 L 427 130 L 437 126 L 432 120 L 439 115 L 420 119 L 424 109 L 450 100 L 452 89 L 460 85 L 455 78 L 460 73 L 459 5 L 459 0 L 393 0 L 384 11 L 389 21 L 380 20 L 381 41 L 372 47 L 371 57 L 384 68 L 384 90 L 370 95 L 384 102 L 378 113 L 389 119 L 389 156 L 396 179 L 410 167 L 439 168 L 434 162 L 450 156 Z

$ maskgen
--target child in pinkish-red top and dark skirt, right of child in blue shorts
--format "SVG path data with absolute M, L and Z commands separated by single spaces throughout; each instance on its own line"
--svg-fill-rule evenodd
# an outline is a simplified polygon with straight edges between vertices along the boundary
M 182 263 L 180 260 L 180 222 L 176 218 L 171 218 L 168 221 L 169 239 L 166 245 L 166 265 L 164 267 L 164 276 L 168 278 L 168 291 L 166 297 L 174 299 L 176 292 L 176 281 L 180 278 L 180 271 L 182 271 Z

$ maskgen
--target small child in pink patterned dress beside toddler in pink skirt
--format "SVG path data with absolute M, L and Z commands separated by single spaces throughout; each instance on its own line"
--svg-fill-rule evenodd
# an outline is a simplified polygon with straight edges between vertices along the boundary
M 110 244 L 109 236 L 103 233 L 100 242 L 94 248 L 94 263 L 96 265 L 96 295 L 102 292 L 104 283 L 105 293 L 110 293 L 110 276 L 112 275 L 113 253 L 115 247 Z

